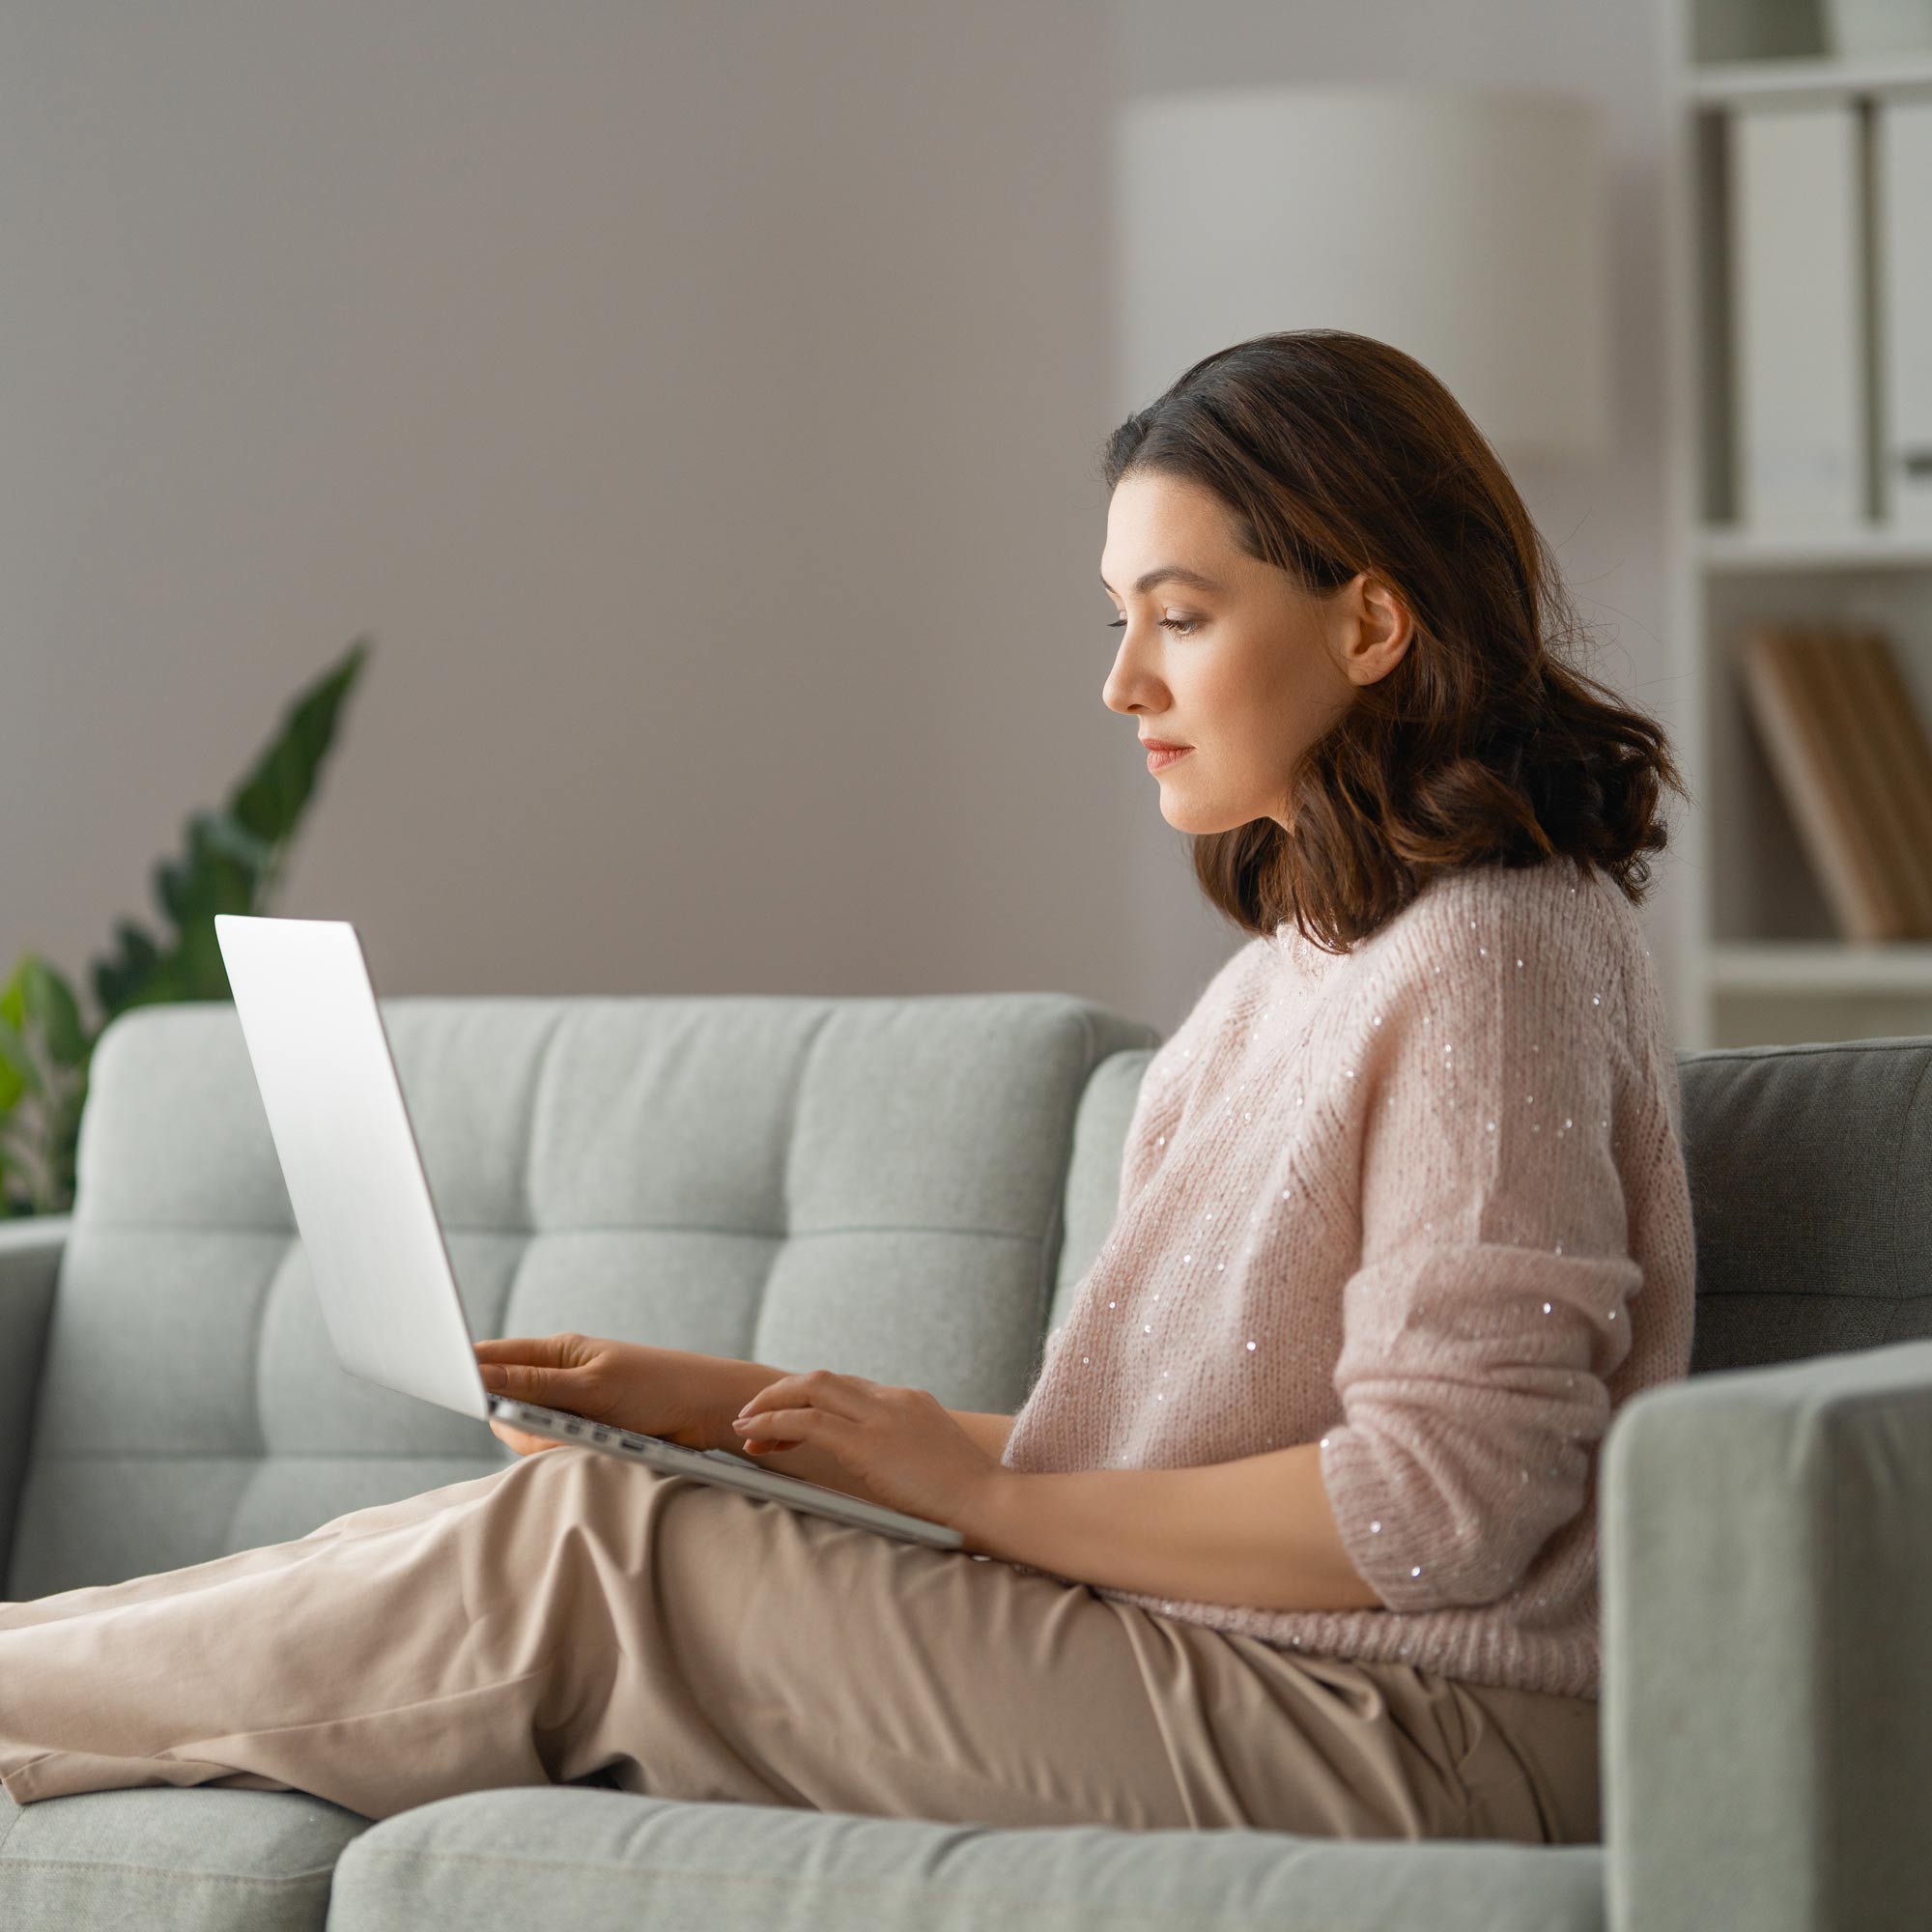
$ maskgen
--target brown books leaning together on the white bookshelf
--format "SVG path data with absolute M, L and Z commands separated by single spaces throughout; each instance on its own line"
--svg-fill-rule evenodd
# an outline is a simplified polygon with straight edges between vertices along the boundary
M 1745 701 L 1845 939 L 1932 939 L 1932 740 L 1889 638 L 1754 624 Z

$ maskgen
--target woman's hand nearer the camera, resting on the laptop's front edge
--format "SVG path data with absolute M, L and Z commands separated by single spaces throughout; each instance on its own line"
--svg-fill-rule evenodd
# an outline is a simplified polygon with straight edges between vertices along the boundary
M 978 1515 L 1003 1468 L 929 1391 L 825 1368 L 765 1383 L 732 1434 L 748 1451 L 813 1443 L 889 1509 L 954 1528 Z

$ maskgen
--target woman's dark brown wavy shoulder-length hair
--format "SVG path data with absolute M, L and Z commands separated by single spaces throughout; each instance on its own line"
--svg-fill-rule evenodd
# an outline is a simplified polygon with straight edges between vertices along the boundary
M 1294 925 L 1347 952 L 1459 866 L 1569 854 L 1642 904 L 1689 800 L 1662 726 L 1555 649 L 1588 638 L 1515 483 L 1414 357 L 1343 328 L 1236 342 L 1194 363 L 1105 444 L 1128 471 L 1184 477 L 1236 543 L 1329 597 L 1374 572 L 1414 634 L 1385 676 L 1285 775 L 1271 817 L 1194 835 L 1208 900 L 1250 935 Z

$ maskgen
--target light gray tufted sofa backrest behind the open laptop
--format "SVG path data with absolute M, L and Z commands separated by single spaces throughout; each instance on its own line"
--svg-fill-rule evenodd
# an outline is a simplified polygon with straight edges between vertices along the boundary
M 1057 993 L 381 1009 L 475 1337 L 580 1329 L 1007 1412 L 1105 1240 L 1159 1045 Z M 510 1457 L 336 1362 L 234 1007 L 116 1016 L 0 1594 L 303 1536 Z

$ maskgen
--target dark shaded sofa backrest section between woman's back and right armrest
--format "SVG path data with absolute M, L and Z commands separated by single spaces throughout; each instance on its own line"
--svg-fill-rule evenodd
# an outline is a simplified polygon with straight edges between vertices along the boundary
M 1932 1039 L 1679 1053 L 1690 1372 L 1932 1335 Z

